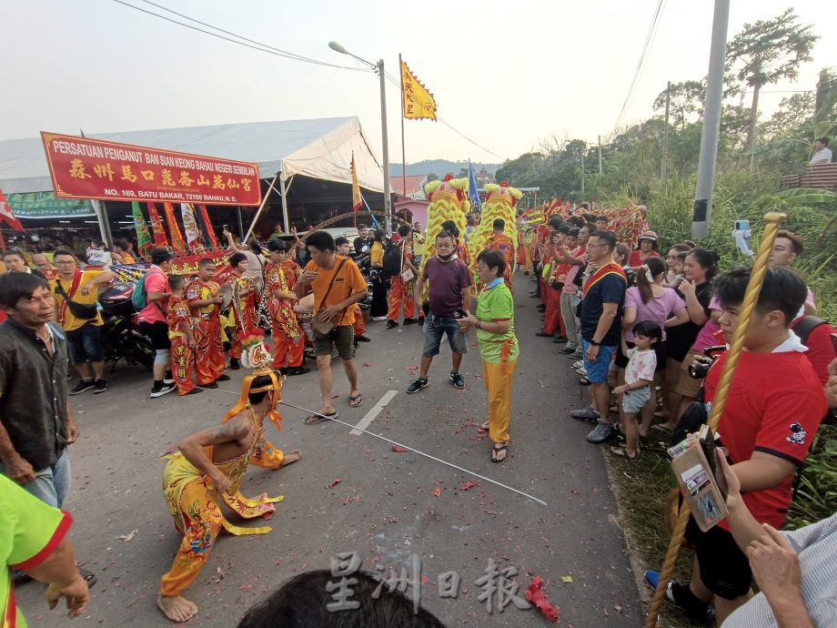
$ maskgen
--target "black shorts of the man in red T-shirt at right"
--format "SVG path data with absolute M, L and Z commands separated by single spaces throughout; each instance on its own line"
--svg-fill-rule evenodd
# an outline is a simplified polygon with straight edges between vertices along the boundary
M 750 591 L 750 561 L 732 538 L 732 532 L 717 525 L 709 532 L 701 532 L 690 515 L 686 540 L 694 545 L 701 565 L 701 581 L 712 593 L 725 600 L 734 600 Z

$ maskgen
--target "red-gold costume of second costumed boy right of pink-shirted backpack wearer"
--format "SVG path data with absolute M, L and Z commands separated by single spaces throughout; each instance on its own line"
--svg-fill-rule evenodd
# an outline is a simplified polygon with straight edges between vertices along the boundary
M 194 279 L 186 289 L 186 299 L 192 310 L 192 333 L 195 336 L 195 371 L 197 384 L 204 386 L 224 374 L 227 360 L 221 341 L 221 312 L 217 303 L 197 308 L 195 301 L 205 301 L 217 295 L 220 287 L 215 281 L 204 283 Z

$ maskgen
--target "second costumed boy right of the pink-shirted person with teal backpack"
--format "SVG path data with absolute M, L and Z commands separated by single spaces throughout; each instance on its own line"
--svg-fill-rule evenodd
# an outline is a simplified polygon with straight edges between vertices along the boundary
M 215 261 L 203 258 L 197 264 L 197 279 L 186 289 L 186 299 L 192 309 L 195 325 L 195 372 L 197 385 L 202 388 L 217 388 L 217 381 L 228 380 L 224 372 L 227 360 L 224 358 L 224 344 L 221 340 L 221 310 L 224 297 L 220 286 L 213 281 Z

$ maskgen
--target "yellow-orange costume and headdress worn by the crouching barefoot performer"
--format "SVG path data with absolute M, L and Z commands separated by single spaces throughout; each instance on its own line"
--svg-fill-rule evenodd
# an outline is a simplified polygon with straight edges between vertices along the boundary
M 242 362 L 247 368 L 254 369 L 241 385 L 241 395 L 237 403 L 224 415 L 222 422 L 232 419 L 243 410 L 250 410 L 250 418 L 256 427 L 253 441 L 247 451 L 231 461 L 213 462 L 232 481 L 229 490 L 218 493 L 207 481 L 207 477 L 187 461 L 181 452 L 164 456 L 167 460 L 163 469 L 163 494 L 166 496 L 168 510 L 175 520 L 177 532 L 183 534 L 183 541 L 177 550 L 171 570 L 160 581 L 160 593 L 164 597 L 174 597 L 182 593 L 195 582 L 212 545 L 224 528 L 236 535 L 267 534 L 269 526 L 259 528 L 241 528 L 228 522 L 221 512 L 220 504 L 237 512 L 245 519 L 264 517 L 269 519 L 282 497 L 267 497 L 262 494 L 253 499 L 247 499 L 239 491 L 241 482 L 247 473 L 247 465 L 253 464 L 267 469 L 278 469 L 284 459 L 282 451 L 277 450 L 262 433 L 262 426 L 258 423 L 253 410 L 247 401 L 251 392 L 273 390 L 273 406 L 267 413 L 267 418 L 281 430 L 279 423 L 282 416 L 277 412 L 277 404 L 281 399 L 282 383 L 272 368 L 272 359 L 261 339 L 252 338 L 245 341 L 247 349 L 242 354 Z M 270 383 L 259 388 L 252 388 L 253 381 L 259 376 L 267 376 Z M 212 448 L 207 447 L 207 457 L 212 460 Z

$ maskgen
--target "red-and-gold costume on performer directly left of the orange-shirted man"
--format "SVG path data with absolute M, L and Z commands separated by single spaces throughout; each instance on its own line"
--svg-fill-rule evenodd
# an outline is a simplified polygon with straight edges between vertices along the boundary
M 297 368 L 302 366 L 302 351 L 305 349 L 305 336 L 299 327 L 293 301 L 278 299 L 279 292 L 290 292 L 287 275 L 282 264 L 267 262 L 265 265 L 265 284 L 267 285 L 267 311 L 270 313 L 271 338 L 273 338 L 273 368 L 284 366 Z

